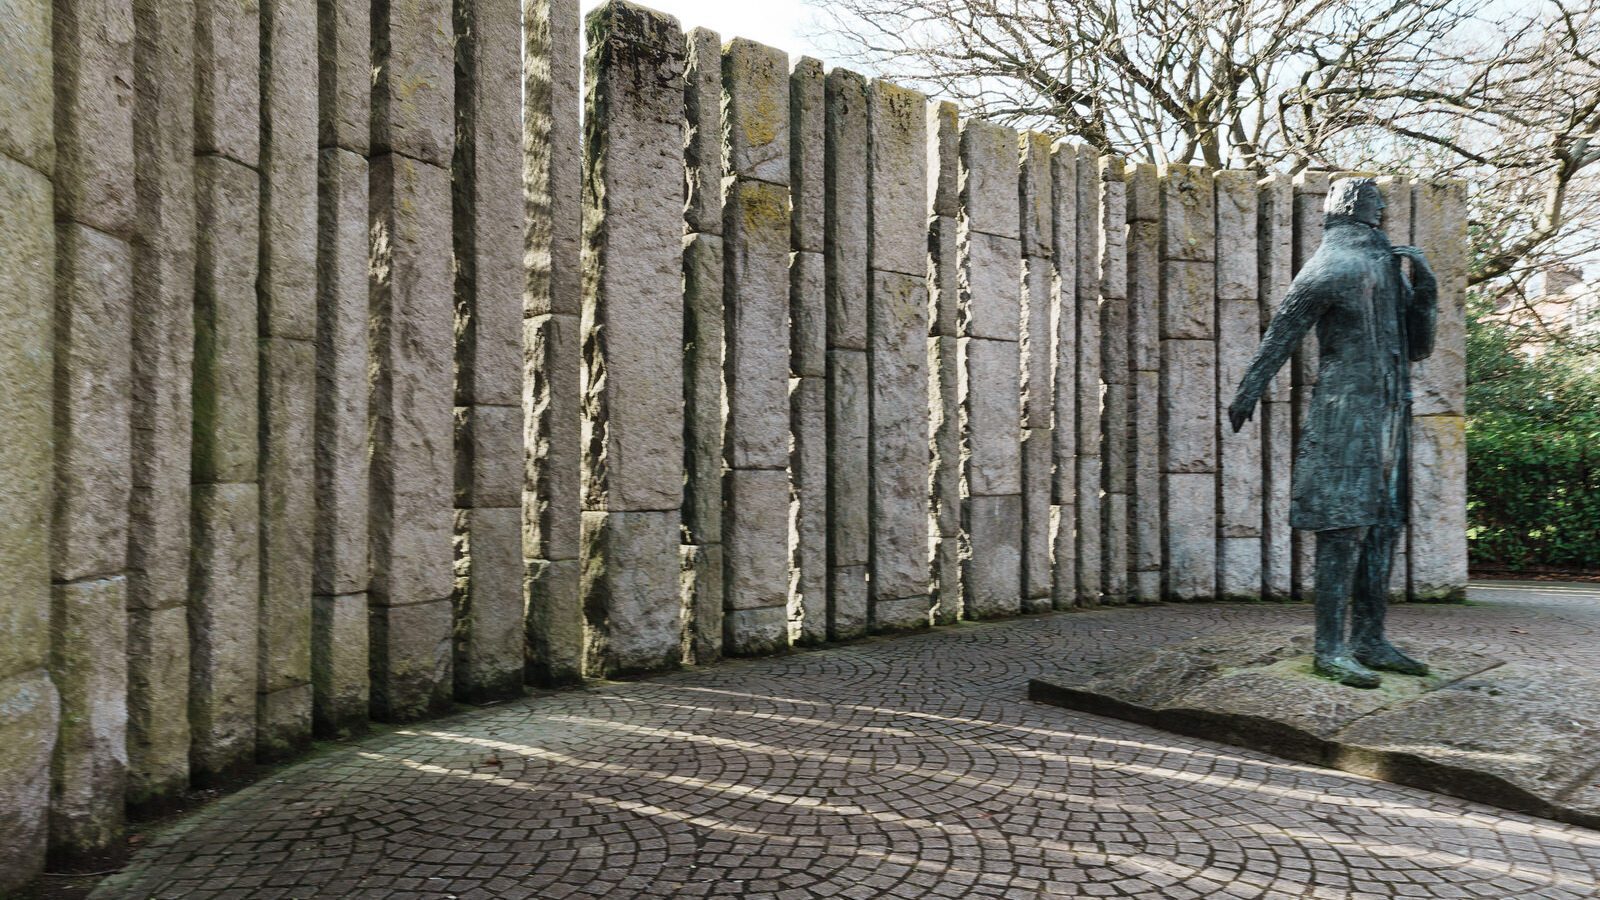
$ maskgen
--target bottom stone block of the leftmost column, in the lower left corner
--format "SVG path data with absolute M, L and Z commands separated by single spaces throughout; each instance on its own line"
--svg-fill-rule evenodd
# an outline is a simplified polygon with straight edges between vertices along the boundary
M 0 842 L 0 890 L 21 890 L 45 870 L 50 841 L 50 761 L 61 721 L 56 687 L 43 669 L 0 679 L 0 804 L 6 839 Z

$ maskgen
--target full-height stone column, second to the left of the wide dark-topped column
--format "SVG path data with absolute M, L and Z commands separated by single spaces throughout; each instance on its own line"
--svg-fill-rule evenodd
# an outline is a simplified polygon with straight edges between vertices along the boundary
M 522 11 L 456 0 L 456 697 L 523 681 Z

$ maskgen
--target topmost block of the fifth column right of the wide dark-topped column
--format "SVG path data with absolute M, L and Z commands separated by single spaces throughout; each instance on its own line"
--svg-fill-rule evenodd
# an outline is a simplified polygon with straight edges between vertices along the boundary
M 922 279 L 928 269 L 928 98 L 874 78 L 867 130 L 867 264 Z

